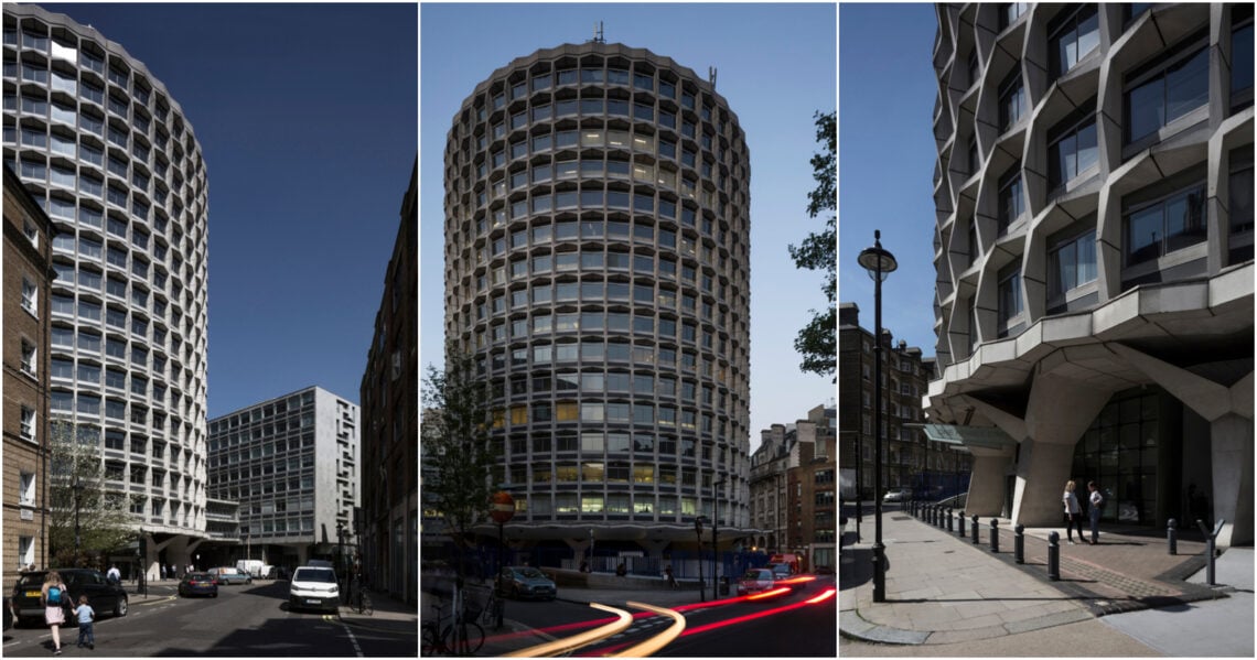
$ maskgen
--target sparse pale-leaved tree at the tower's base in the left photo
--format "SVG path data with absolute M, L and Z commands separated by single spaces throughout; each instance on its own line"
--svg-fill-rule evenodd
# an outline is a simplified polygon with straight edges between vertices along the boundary
M 108 493 L 99 431 L 54 420 L 49 432 L 48 542 L 54 566 L 88 566 L 134 541 L 126 494 Z M 74 513 L 78 499 L 78 553 Z

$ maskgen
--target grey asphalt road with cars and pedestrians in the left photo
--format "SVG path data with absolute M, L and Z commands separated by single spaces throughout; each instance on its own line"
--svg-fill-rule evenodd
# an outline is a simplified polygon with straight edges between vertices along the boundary
M 62 655 L 150 656 L 415 656 L 415 636 L 393 635 L 342 624 L 334 615 L 289 611 L 288 582 L 219 587 L 217 598 L 180 598 L 173 587 L 152 593 L 167 598 L 132 602 L 121 619 L 98 617 L 96 650 L 78 649 L 77 625 L 63 629 Z M 47 627 L 9 629 L 4 655 L 52 655 Z

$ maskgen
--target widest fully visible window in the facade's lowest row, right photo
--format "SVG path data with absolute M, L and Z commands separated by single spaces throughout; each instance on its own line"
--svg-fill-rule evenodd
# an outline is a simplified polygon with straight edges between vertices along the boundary
M 1197 184 L 1128 209 L 1124 214 L 1126 265 L 1150 261 L 1204 241 L 1204 184 Z

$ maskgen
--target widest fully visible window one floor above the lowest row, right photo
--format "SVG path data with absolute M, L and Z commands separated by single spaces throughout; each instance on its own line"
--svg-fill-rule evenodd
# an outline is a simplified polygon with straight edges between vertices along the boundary
M 1165 59 L 1153 63 L 1151 72 L 1136 72 L 1125 93 L 1126 143 L 1156 133 L 1163 126 L 1209 102 L 1209 49 L 1204 35 L 1188 39 L 1188 49 L 1178 48 Z

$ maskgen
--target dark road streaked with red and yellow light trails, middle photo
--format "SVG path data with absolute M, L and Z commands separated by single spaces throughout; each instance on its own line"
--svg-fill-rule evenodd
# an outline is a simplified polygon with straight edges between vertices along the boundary
M 833 576 L 821 576 L 781 597 L 683 608 L 686 630 L 655 655 L 835 657 L 838 634 L 837 597 L 831 596 L 817 603 L 804 602 L 827 588 L 836 588 Z M 650 602 L 647 593 L 641 600 Z M 623 607 L 623 603 L 616 602 L 603 605 Z M 544 630 L 556 639 L 588 630 L 590 626 L 582 626 L 582 622 L 611 617 L 605 611 L 564 601 L 510 601 L 507 607 L 508 617 Z M 572 655 L 595 656 L 622 651 L 662 632 L 669 625 L 670 620 L 661 616 L 639 617 L 625 632 L 579 649 Z M 493 631 L 486 632 L 493 635 Z

